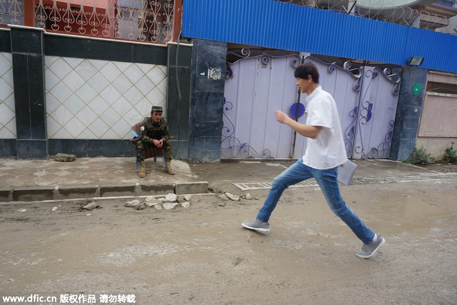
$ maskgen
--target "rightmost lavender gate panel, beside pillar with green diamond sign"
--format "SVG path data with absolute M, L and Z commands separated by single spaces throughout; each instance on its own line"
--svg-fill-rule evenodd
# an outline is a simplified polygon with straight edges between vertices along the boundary
M 388 70 L 364 67 L 353 159 L 388 158 L 397 112 L 400 78 Z

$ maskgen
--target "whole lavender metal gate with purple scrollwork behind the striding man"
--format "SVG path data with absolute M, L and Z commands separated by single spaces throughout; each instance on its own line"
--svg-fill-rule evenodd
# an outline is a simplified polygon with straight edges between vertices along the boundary
M 314 63 L 319 84 L 335 98 L 348 158 L 387 158 L 395 119 L 399 80 L 379 68 L 350 70 L 298 55 L 249 57 L 249 50 L 229 63 L 225 80 L 225 103 L 221 159 L 298 159 L 307 138 L 279 124 L 279 109 L 299 123 L 306 120 L 304 101 L 293 71 L 303 62 Z M 297 102 L 299 102 L 297 104 Z

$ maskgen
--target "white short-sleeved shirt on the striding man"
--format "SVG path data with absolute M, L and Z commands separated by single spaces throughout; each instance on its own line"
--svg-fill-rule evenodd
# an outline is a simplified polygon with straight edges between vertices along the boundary
M 315 169 L 330 169 L 347 161 L 335 100 L 318 86 L 306 97 L 306 125 L 322 126 L 315 139 L 308 138 L 303 163 Z

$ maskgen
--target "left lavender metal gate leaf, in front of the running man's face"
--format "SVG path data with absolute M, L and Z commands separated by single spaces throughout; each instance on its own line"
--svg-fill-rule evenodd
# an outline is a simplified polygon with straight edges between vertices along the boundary
M 274 111 L 297 100 L 298 55 L 260 55 L 229 64 L 221 158 L 290 158 L 292 132 Z

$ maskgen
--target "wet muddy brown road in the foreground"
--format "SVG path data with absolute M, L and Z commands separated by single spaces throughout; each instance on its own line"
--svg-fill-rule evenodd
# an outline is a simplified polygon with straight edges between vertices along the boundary
M 95 295 L 103 303 L 103 294 L 133 294 L 142 305 L 457 304 L 455 179 L 341 192 L 386 239 L 370 259 L 355 255 L 361 241 L 315 187 L 286 190 L 265 234 L 241 222 L 256 216 L 268 190 L 238 202 L 198 196 L 171 211 L 135 210 L 125 199 L 97 200 L 91 211 L 77 201 L 3 204 L 0 295 Z

